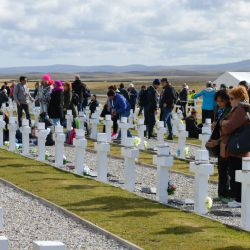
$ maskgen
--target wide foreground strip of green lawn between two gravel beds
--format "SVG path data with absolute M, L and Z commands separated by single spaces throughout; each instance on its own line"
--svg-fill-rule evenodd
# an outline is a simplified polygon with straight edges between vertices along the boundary
M 0 177 L 144 249 L 222 250 L 250 246 L 249 233 L 2 149 Z

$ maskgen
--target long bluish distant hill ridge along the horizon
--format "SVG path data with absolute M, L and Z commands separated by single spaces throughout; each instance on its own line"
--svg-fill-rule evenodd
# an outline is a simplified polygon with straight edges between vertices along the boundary
M 178 65 L 178 66 L 146 66 L 132 64 L 127 66 L 77 66 L 77 65 L 50 65 L 0 68 L 1 75 L 41 74 L 41 73 L 131 73 L 152 75 L 155 72 L 164 72 L 165 75 L 195 75 L 199 73 L 218 73 L 225 71 L 250 71 L 250 60 L 216 64 L 216 65 Z

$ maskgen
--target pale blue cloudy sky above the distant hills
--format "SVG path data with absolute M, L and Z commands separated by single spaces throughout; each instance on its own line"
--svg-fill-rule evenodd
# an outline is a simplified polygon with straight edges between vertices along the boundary
M 250 1 L 0 0 L 0 67 L 250 59 Z

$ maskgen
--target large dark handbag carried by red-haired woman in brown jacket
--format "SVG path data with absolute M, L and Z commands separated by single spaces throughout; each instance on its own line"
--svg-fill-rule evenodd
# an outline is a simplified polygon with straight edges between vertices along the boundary
M 229 138 L 227 149 L 229 153 L 241 155 L 250 152 L 250 124 L 237 129 Z

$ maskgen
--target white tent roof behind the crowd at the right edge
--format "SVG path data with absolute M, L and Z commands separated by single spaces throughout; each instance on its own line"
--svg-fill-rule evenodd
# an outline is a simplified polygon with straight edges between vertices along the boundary
M 214 82 L 217 85 L 225 84 L 227 87 L 229 87 L 237 86 L 241 81 L 247 81 L 250 83 L 250 72 L 225 72 Z

